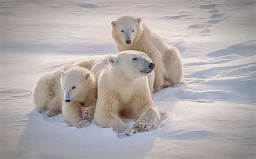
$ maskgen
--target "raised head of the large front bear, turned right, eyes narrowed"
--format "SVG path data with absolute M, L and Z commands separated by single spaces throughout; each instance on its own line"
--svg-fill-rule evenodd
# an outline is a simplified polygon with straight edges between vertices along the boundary
M 143 52 L 125 50 L 108 59 L 114 71 L 119 71 L 126 77 L 148 76 L 154 69 L 154 63 Z

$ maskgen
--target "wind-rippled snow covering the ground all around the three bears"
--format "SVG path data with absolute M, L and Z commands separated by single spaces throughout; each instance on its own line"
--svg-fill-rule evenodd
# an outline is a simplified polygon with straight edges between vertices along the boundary
M 255 158 L 255 1 L 1 1 L 1 158 Z M 111 21 L 142 17 L 176 46 L 185 77 L 153 100 L 167 118 L 118 139 L 94 122 L 46 117 L 42 73 L 116 54 Z M 132 126 L 134 121 L 127 121 Z

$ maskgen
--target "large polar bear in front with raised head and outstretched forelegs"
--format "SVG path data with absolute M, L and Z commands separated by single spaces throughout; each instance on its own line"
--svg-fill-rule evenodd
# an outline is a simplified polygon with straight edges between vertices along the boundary
M 112 127 L 120 137 L 129 136 L 134 131 L 120 118 L 123 114 L 137 120 L 133 127 L 138 132 L 157 128 L 160 114 L 151 98 L 146 77 L 152 73 L 154 63 L 145 53 L 135 50 L 110 56 L 108 62 L 98 79 L 96 124 Z

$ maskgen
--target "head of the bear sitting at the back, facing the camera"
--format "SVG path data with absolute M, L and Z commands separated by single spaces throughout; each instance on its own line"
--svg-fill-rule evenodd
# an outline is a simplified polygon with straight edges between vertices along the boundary
M 142 35 L 141 18 L 124 16 L 112 21 L 112 35 L 115 40 L 122 42 L 124 45 L 131 45 L 136 42 Z

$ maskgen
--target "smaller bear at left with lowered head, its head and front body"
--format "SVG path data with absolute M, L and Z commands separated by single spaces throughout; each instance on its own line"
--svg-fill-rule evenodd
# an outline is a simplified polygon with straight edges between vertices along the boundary
M 97 100 L 97 83 L 90 70 L 71 67 L 62 71 L 60 78 L 63 90 L 63 119 L 77 128 L 91 124 Z

